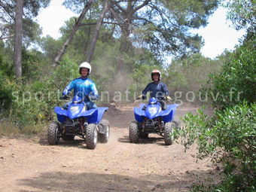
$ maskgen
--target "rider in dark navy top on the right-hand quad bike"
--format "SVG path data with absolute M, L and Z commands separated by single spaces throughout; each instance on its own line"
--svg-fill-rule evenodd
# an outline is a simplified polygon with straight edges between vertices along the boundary
M 160 81 L 161 72 L 157 69 L 154 69 L 151 72 L 151 79 L 153 82 L 149 83 L 147 87 L 142 91 L 142 95 L 138 96 L 138 99 L 146 99 L 146 94 L 150 91 L 151 97 L 157 98 L 158 102 L 160 102 L 163 110 L 166 109 L 166 103 L 163 102 L 163 98 L 167 101 L 171 101 L 171 97 L 169 96 L 169 90 L 166 84 Z

